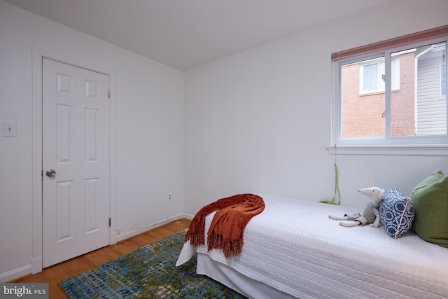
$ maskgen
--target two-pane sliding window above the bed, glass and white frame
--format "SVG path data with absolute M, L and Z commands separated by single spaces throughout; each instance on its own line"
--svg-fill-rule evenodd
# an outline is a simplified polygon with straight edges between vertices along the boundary
M 448 26 L 437 39 L 335 59 L 332 144 L 448 144 L 447 41 Z

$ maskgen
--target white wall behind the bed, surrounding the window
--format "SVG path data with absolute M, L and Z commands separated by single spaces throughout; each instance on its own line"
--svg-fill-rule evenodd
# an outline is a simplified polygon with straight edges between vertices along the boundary
M 448 1 L 402 0 L 186 71 L 186 209 L 243 192 L 330 199 L 330 55 L 447 25 Z M 342 203 L 367 181 L 409 196 L 448 156 L 338 155 Z

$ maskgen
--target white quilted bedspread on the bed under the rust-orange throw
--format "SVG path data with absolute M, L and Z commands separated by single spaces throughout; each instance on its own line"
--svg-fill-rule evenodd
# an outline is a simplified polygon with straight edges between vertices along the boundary
M 260 196 L 265 210 L 246 226 L 239 256 L 226 259 L 220 250 L 207 252 L 207 244 L 188 242 L 176 265 L 197 251 L 302 299 L 448 297 L 447 248 L 412 232 L 393 239 L 382 227 L 346 228 L 328 218 L 362 209 Z

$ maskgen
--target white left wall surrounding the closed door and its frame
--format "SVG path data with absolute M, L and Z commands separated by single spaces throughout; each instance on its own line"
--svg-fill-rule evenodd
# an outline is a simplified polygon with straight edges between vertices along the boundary
M 31 47 L 113 72 L 121 236 L 183 213 L 183 73 L 0 0 L 0 281 L 31 271 Z

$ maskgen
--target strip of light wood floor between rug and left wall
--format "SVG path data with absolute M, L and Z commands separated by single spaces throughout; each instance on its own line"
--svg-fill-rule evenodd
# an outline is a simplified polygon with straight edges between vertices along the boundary
M 72 277 L 73 275 L 83 273 L 106 263 L 109 260 L 116 259 L 119 256 L 124 256 L 127 253 L 141 248 L 141 246 L 156 242 L 170 235 L 174 235 L 176 232 L 181 232 L 182 230 L 188 228 L 189 225 L 190 220 L 188 219 L 181 219 L 179 221 L 167 223 L 159 228 L 148 230 L 140 235 L 125 239 L 122 242 L 118 242 L 116 245 L 106 246 L 102 249 L 86 253 L 83 256 L 78 256 L 77 258 L 72 258 L 71 260 L 66 260 L 63 263 L 45 268 L 40 273 L 34 275 L 29 274 L 25 277 L 15 279 L 10 282 L 47 282 L 49 284 L 50 299 L 66 298 L 64 292 L 62 292 L 59 286 L 57 286 L 57 282 Z

